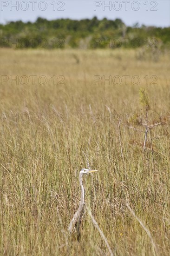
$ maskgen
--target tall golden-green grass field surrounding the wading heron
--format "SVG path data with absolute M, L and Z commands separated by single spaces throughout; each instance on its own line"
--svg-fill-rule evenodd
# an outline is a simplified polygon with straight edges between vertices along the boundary
M 66 243 L 87 159 L 98 172 L 83 177 L 85 201 L 113 254 L 170 255 L 169 54 L 156 61 L 137 51 L 1 49 L 0 255 L 109 255 L 87 213 L 80 240 Z M 122 84 L 103 84 L 103 75 Z M 163 121 L 145 152 L 141 88 L 149 125 Z

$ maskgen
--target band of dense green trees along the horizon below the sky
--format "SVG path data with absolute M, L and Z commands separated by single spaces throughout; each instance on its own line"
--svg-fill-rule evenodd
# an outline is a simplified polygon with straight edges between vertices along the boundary
M 170 27 L 127 27 L 120 19 L 21 20 L 1 25 L 1 47 L 118 48 L 168 47 Z

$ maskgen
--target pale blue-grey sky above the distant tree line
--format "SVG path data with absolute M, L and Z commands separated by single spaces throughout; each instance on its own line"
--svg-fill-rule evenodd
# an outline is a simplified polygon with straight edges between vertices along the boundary
M 38 17 L 54 20 L 119 18 L 128 26 L 170 26 L 170 0 L 0 0 L 0 23 L 35 21 Z

